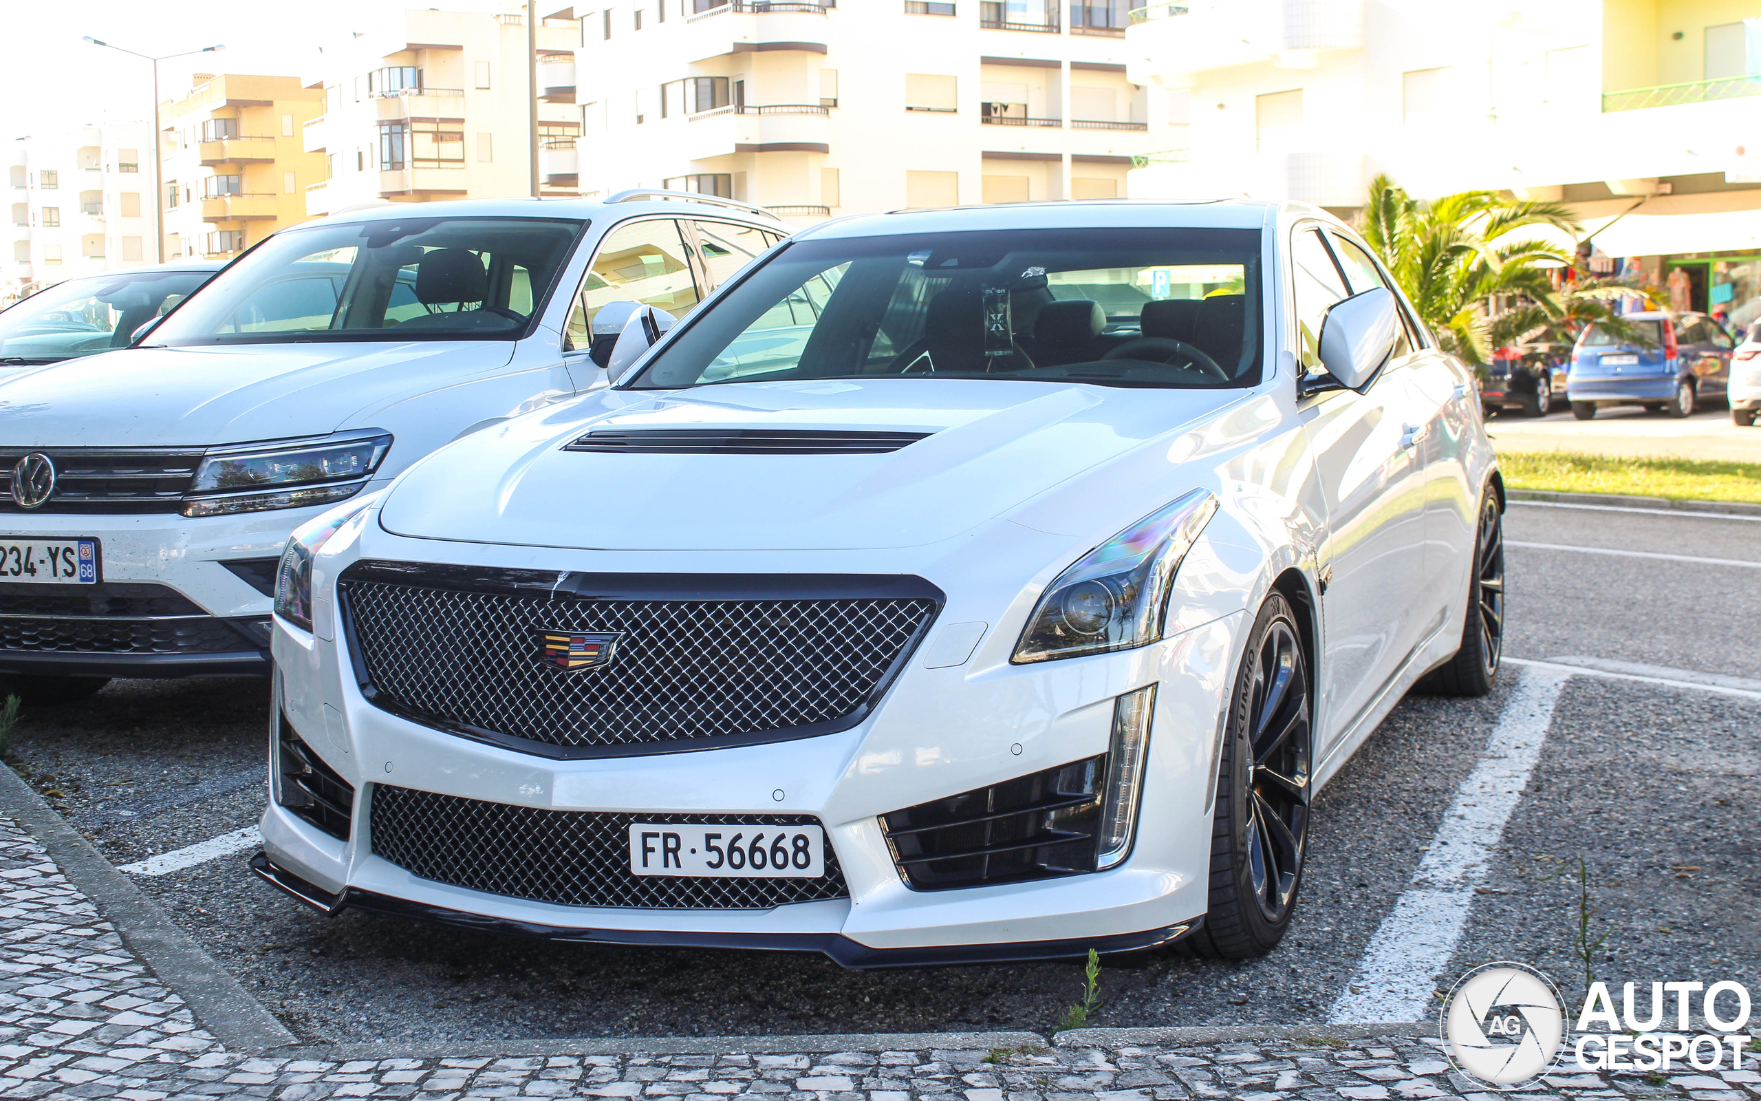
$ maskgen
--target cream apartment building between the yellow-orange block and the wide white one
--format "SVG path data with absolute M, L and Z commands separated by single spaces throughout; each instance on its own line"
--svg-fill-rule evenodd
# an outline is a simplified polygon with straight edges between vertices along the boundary
M 579 44 L 581 25 L 567 11 L 539 18 L 546 196 L 576 194 Z M 530 46 L 519 11 L 368 12 L 365 30 L 324 46 L 305 81 L 322 113 L 305 125 L 303 148 L 324 164 L 305 211 L 532 194 Z

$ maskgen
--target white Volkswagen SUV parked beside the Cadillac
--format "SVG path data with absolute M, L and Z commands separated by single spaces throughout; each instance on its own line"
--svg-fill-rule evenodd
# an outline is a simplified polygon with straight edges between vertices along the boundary
M 296 525 L 604 386 L 590 314 L 683 314 L 787 233 L 743 203 L 664 192 L 386 204 L 264 240 L 144 336 L 173 277 L 111 280 L 63 324 L 97 331 L 102 314 L 104 342 L 134 347 L 42 365 L 48 336 L 5 340 L 0 699 L 266 675 Z

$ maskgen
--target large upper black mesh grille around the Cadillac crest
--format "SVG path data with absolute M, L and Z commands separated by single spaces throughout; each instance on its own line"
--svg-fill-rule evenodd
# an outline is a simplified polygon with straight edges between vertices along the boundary
M 340 590 L 368 699 L 548 756 L 664 752 L 854 726 L 937 608 L 937 599 L 914 595 L 472 590 L 375 580 L 361 565 Z M 546 664 L 541 634 L 555 631 L 616 634 L 611 664 Z

